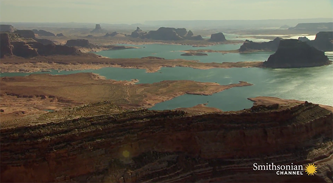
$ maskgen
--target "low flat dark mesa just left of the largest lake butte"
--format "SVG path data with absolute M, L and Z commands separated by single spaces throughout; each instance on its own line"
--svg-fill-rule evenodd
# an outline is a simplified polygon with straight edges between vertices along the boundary
M 241 45 L 239 51 L 247 52 L 257 50 L 275 52 L 278 49 L 281 40 L 283 39 L 280 37 L 276 37 L 274 40 L 268 42 L 253 42 L 246 39 L 243 45 Z

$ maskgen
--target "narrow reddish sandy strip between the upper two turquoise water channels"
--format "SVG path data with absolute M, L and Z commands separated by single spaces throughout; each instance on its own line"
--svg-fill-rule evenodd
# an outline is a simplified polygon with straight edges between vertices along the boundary
M 262 67 L 263 62 L 223 62 L 203 63 L 183 59 L 109 59 L 101 56 L 54 56 L 32 59 L 0 59 L 0 73 L 40 72 L 48 70 L 87 70 L 103 67 L 145 69 L 152 73 L 162 67 L 191 67 L 194 69 Z

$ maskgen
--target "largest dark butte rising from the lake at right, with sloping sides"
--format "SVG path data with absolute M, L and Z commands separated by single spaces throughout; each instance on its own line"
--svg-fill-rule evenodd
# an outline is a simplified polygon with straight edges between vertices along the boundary
M 329 65 L 324 52 L 297 39 L 281 40 L 275 54 L 263 63 L 270 68 L 301 68 Z

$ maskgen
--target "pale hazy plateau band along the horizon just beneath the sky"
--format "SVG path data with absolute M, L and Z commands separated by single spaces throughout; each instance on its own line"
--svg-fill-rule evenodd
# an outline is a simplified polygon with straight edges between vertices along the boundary
M 98 20 L 97 20 L 98 21 Z M 281 20 L 158 20 L 145 21 L 144 24 L 109 24 L 100 23 L 102 28 L 123 28 L 135 29 L 155 29 L 158 27 L 175 27 L 187 29 L 213 29 L 213 28 L 279 28 L 281 26 L 294 27 L 301 23 L 322 23 L 333 22 L 333 18 L 314 18 L 314 19 L 281 19 Z M 99 22 L 96 22 L 99 23 Z M 0 24 L 13 25 L 20 27 L 61 27 L 61 28 L 88 28 L 94 29 L 96 23 L 34 23 L 34 22 L 0 22 Z

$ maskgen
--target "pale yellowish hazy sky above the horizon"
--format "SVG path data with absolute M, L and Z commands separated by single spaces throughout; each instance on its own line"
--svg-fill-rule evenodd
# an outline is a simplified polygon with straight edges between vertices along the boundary
M 0 0 L 0 22 L 333 18 L 333 0 Z

